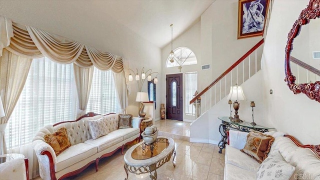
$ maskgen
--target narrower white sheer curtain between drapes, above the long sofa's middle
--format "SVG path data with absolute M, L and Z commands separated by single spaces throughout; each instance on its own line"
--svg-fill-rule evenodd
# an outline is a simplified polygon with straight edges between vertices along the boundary
M 86 111 L 100 114 L 120 112 L 117 96 L 112 71 L 101 71 L 95 68 Z

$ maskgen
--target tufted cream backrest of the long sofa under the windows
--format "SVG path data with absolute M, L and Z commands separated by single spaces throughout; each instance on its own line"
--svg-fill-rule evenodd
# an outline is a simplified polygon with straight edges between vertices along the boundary
M 84 142 L 92 138 L 89 130 L 88 120 L 95 120 L 101 117 L 103 117 L 106 122 L 108 132 L 112 132 L 118 128 L 118 114 L 95 115 L 93 117 L 83 117 L 78 121 L 63 122 L 55 126 L 46 125 L 35 134 L 35 137 L 32 141 L 36 139 L 44 141 L 43 136 L 45 134 L 53 133 L 58 128 L 65 127 L 67 129 L 67 134 L 71 145 Z

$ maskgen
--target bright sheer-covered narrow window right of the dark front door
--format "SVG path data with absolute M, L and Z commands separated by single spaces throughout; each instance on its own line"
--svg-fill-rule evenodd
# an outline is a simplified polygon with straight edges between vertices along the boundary
M 195 108 L 189 101 L 197 89 L 197 72 L 185 72 L 185 114 L 195 115 Z

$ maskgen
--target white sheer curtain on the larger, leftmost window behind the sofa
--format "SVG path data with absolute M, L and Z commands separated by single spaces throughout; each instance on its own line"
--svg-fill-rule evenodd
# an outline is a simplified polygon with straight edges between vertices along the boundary
M 76 92 L 73 67 L 47 57 L 33 59 L 25 85 L 5 129 L 8 153 L 29 159 L 29 172 L 37 174 L 31 147 L 34 134 L 44 125 L 75 119 Z

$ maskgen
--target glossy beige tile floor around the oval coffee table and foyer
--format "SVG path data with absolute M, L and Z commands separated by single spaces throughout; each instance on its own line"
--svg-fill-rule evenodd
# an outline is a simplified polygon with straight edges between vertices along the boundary
M 160 130 L 169 133 L 189 135 L 189 122 L 166 119 L 156 121 L 155 125 Z M 181 139 L 174 139 L 174 142 L 176 166 L 173 167 L 172 161 L 169 161 L 159 167 L 156 170 L 158 180 L 223 179 L 224 150 L 220 154 L 218 146 L 214 144 L 192 143 Z M 126 145 L 124 150 L 126 151 L 133 144 Z M 91 164 L 81 173 L 66 179 L 123 180 L 126 177 L 123 164 L 123 155 L 118 150 L 112 156 L 100 159 L 97 172 L 95 172 L 94 164 Z M 135 179 L 139 178 L 129 172 L 128 180 Z M 147 176 L 143 179 L 150 179 L 150 177 Z

